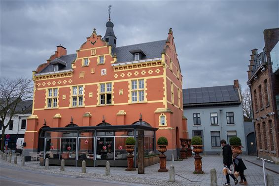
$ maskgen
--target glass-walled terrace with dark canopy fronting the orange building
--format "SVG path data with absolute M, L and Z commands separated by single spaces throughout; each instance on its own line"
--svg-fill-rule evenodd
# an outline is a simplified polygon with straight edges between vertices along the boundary
M 105 121 L 97 126 L 79 127 L 73 123 L 68 127 L 42 128 L 44 132 L 44 159 L 49 158 L 49 164 L 81 166 L 83 160 L 86 166 L 105 166 L 106 161 L 111 166 L 127 166 L 127 151 L 125 141 L 128 137 L 136 139 L 135 166 L 137 158 L 138 132 L 144 131 L 144 153 L 154 154 L 156 130 L 145 121 L 136 121 L 131 125 L 110 125 Z

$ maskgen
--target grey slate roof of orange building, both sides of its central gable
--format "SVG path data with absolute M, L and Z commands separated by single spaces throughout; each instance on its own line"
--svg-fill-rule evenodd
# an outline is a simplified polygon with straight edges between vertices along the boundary
M 125 63 L 134 61 L 134 55 L 130 52 L 133 50 L 142 50 L 145 56 L 141 56 L 140 60 L 144 59 L 153 59 L 162 57 L 161 53 L 163 52 L 164 46 L 166 44 L 166 40 L 158 40 L 152 42 L 145 42 L 127 46 L 120 46 L 113 48 L 112 54 L 116 54 L 117 62 L 116 63 Z M 59 59 L 59 60 L 57 60 Z M 66 64 L 59 66 L 59 71 L 69 70 L 71 69 L 71 63 L 76 59 L 76 54 L 64 55 L 59 58 L 55 58 L 50 62 L 48 66 L 46 66 L 43 70 L 38 73 L 50 73 L 54 70 L 54 64 Z

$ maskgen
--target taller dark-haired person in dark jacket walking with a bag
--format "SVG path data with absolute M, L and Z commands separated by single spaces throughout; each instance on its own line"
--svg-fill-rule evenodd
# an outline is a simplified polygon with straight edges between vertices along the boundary
M 233 158 L 232 158 L 232 148 L 229 144 L 227 144 L 226 140 L 221 140 L 221 146 L 223 147 L 223 163 L 224 166 L 228 169 L 231 169 L 231 165 L 233 164 Z M 238 184 L 238 179 L 234 176 L 234 174 L 227 174 L 226 179 L 227 182 L 223 184 L 223 186 L 230 186 L 230 177 L 229 175 L 234 179 L 235 185 Z

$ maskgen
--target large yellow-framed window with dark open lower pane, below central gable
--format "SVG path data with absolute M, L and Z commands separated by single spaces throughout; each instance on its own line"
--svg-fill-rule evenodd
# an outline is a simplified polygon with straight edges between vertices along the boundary
M 100 105 L 107 105 L 112 103 L 112 84 L 111 83 L 101 83 L 100 84 Z

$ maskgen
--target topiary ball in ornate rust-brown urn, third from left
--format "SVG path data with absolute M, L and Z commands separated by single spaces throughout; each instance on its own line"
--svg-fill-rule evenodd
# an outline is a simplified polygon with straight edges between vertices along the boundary
M 204 174 L 204 171 L 202 170 L 202 156 L 200 156 L 199 153 L 203 151 L 203 141 L 202 138 L 199 136 L 195 136 L 191 140 L 191 144 L 193 149 L 193 152 L 195 152 L 195 171 L 194 174 Z

